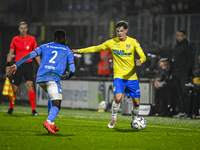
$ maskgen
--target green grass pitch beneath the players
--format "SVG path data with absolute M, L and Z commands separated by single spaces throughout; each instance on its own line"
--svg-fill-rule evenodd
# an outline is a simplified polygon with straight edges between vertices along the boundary
M 0 105 L 1 150 L 199 150 L 200 119 L 184 120 L 144 116 L 145 130 L 130 127 L 130 116 L 118 114 L 114 129 L 107 124 L 111 113 L 61 109 L 55 120 L 60 131 L 49 134 L 43 129 L 47 108 L 37 107 L 39 116 L 31 116 L 31 108 Z

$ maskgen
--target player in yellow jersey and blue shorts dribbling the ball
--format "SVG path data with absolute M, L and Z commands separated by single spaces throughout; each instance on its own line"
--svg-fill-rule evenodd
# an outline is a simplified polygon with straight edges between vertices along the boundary
M 127 36 L 128 23 L 119 21 L 115 25 L 117 37 L 107 40 L 106 42 L 88 48 L 72 50 L 72 53 L 93 53 L 110 49 L 113 55 L 113 88 L 115 100 L 112 103 L 112 120 L 108 128 L 114 128 L 117 121 L 117 112 L 120 107 L 122 94 L 130 96 L 133 101 L 132 121 L 138 116 L 140 105 L 140 87 L 136 74 L 136 66 L 141 66 L 146 61 L 146 56 L 140 47 L 138 41 Z M 140 59 L 135 59 L 135 52 Z

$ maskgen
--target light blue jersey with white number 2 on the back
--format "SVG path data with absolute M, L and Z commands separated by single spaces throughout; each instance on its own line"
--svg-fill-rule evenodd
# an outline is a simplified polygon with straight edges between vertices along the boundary
M 37 82 L 60 81 L 67 63 L 74 63 L 71 50 L 56 42 L 41 45 L 35 49 L 35 52 L 41 57 Z

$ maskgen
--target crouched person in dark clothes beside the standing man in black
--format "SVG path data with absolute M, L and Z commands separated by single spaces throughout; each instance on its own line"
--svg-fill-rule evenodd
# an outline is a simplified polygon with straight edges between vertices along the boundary
M 158 116 L 172 117 L 176 111 L 175 106 L 177 99 L 172 76 L 173 64 L 168 58 L 162 58 L 158 63 L 159 67 L 162 69 L 160 80 L 154 81 L 154 86 L 156 88 L 156 107 L 160 107 Z

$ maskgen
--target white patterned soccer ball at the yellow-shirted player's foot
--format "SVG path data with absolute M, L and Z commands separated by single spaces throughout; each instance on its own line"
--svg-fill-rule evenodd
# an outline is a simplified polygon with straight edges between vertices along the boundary
M 147 122 L 143 117 L 136 117 L 132 122 L 131 122 L 131 127 L 135 129 L 145 129 L 147 126 Z

